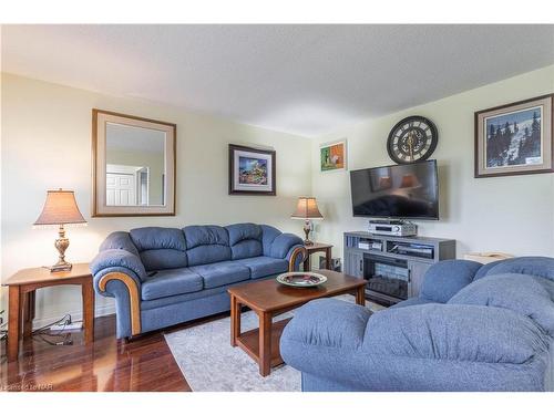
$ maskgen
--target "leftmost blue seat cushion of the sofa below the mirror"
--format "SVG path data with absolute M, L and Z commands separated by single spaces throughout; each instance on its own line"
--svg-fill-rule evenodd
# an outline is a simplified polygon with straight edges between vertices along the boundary
M 204 280 L 189 268 L 157 271 L 142 284 L 142 299 L 155 300 L 164 297 L 201 291 Z

